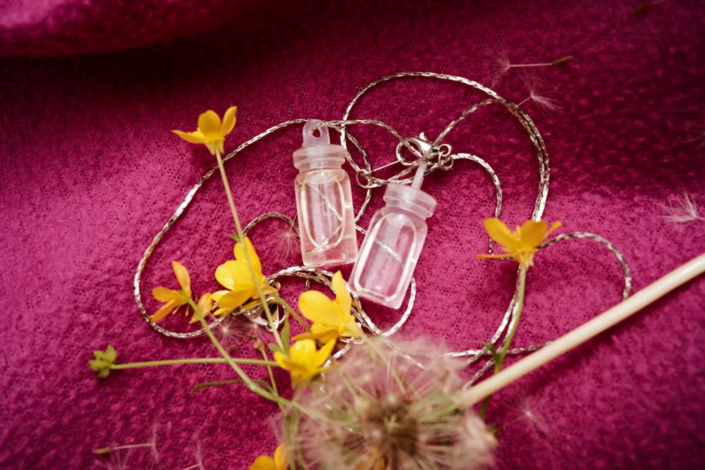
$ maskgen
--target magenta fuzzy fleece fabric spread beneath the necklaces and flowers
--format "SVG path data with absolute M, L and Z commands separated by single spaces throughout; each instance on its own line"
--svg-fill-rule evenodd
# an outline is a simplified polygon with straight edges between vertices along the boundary
M 0 467 L 183 469 L 202 459 L 206 469 L 245 469 L 274 451 L 273 404 L 241 385 L 190 392 L 233 378 L 226 366 L 122 371 L 106 381 L 87 367 L 90 351 L 109 344 L 122 362 L 216 355 L 206 338 L 155 333 L 132 287 L 152 237 L 214 164 L 207 149 L 169 132 L 194 130 L 206 109 L 238 106 L 229 152 L 283 120 L 339 119 L 360 88 L 389 73 L 460 75 L 515 102 L 534 92 L 559 106 L 523 105 L 551 156 L 547 221 L 613 242 L 635 290 L 704 251 L 704 222 L 671 223 L 662 208 L 684 192 L 705 205 L 701 1 L 665 1 L 636 16 L 640 0 L 246 3 L 0 5 Z M 502 67 L 568 55 L 559 66 Z M 353 117 L 435 137 L 479 99 L 457 84 L 398 80 L 371 92 Z M 391 159 L 384 131 L 353 132 L 378 164 Z M 508 114 L 484 109 L 447 142 L 494 166 L 505 222 L 530 216 L 536 156 Z M 298 147 L 293 127 L 228 163 L 245 223 L 270 210 L 295 215 L 290 158 Z M 474 256 L 485 247 L 493 187 L 477 166 L 458 162 L 424 189 L 439 208 L 417 267 L 417 307 L 400 336 L 478 347 L 513 291 L 513 264 Z M 377 190 L 372 209 L 380 199 Z M 149 260 L 147 308 L 158 306 L 148 298 L 152 287 L 176 287 L 172 259 L 189 268 L 195 292 L 214 289 L 214 268 L 231 256 L 231 230 L 212 178 Z M 283 224 L 268 222 L 252 239 L 265 273 L 300 264 Z M 529 272 L 515 344 L 551 340 L 587 321 L 618 302 L 621 283 L 601 245 L 546 249 Z M 299 288 L 286 288 L 290 302 Z M 498 394 L 488 414 L 503 428 L 497 467 L 701 465 L 704 294 L 699 278 Z M 381 326 L 398 315 L 372 306 L 369 313 Z M 182 325 L 181 317 L 164 323 Z M 223 340 L 253 355 L 244 333 Z M 286 388 L 286 375 L 277 378 Z M 156 455 L 92 454 L 152 439 Z

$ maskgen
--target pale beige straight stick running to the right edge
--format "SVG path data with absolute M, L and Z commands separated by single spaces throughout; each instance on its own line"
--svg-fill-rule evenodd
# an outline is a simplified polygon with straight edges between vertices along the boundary
M 489 397 L 489 395 L 505 388 L 510 383 L 516 381 L 518 378 L 522 378 L 534 369 L 538 369 L 548 361 L 556 359 L 556 357 L 561 354 L 572 350 L 572 348 L 581 345 L 590 338 L 594 338 L 596 335 L 599 335 L 599 333 L 623 321 L 651 304 L 651 302 L 663 297 L 663 295 L 668 294 L 668 292 L 674 290 L 676 287 L 687 283 L 687 281 L 696 278 L 704 272 L 705 253 L 675 268 L 673 271 L 666 274 L 666 276 L 663 276 L 663 278 L 654 281 L 654 283 L 651 283 L 635 295 L 632 295 L 632 297 L 628 297 L 625 301 L 608 309 L 594 319 L 583 323 L 581 326 L 575 328 L 575 330 L 566 333 L 557 340 L 542 347 L 537 352 L 529 354 L 507 369 L 474 385 L 472 388 L 463 392 L 462 402 L 470 407 L 484 400 L 485 397 Z

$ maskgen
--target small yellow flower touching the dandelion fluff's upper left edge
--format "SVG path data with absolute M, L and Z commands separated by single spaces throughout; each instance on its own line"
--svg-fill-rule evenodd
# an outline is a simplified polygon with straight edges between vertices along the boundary
M 282 369 L 291 373 L 291 385 L 297 388 L 306 385 L 312 378 L 328 369 L 323 367 L 323 364 L 328 360 L 335 345 L 336 340 L 330 340 L 317 350 L 314 340 L 300 340 L 291 345 L 288 357 L 283 352 L 274 352 L 274 360 Z

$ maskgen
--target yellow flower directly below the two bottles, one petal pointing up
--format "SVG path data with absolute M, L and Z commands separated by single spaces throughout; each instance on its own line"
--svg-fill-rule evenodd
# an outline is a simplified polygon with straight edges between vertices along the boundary
M 299 296 L 299 310 L 313 324 L 311 333 L 296 335 L 294 340 L 314 339 L 329 342 L 337 340 L 339 336 L 362 338 L 362 330 L 357 326 L 355 316 L 350 314 L 352 301 L 341 271 L 333 274 L 333 291 L 336 292 L 335 300 L 317 290 L 302 292 Z

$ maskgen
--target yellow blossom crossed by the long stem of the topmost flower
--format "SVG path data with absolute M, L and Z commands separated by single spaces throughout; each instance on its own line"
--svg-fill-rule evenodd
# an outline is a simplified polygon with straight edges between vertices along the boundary
M 266 283 L 266 278 L 262 274 L 262 263 L 259 261 L 259 256 L 257 256 L 252 242 L 247 237 L 244 237 L 244 240 L 245 248 L 241 243 L 235 245 L 235 261 L 226 261 L 216 268 L 216 280 L 226 288 L 226 290 L 219 290 L 211 295 L 212 299 L 218 302 L 219 308 L 214 312 L 216 316 L 243 307 L 245 302 L 250 299 L 259 299 L 257 285 L 262 289 L 264 295 L 276 293 L 276 289 Z M 252 268 L 255 270 L 257 280 L 252 279 L 250 267 L 247 266 L 245 249 L 247 249 L 247 254 L 252 261 Z

